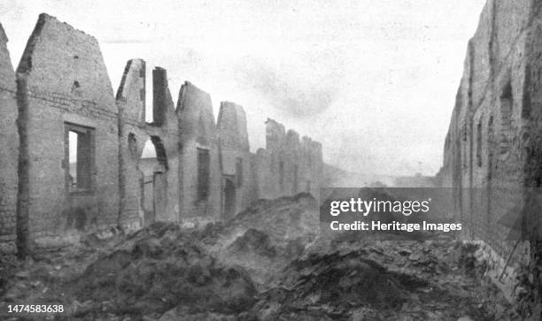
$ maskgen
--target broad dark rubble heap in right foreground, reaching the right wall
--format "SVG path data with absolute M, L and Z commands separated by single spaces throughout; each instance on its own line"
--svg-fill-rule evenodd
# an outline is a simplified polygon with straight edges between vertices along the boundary
M 333 243 L 333 242 L 331 242 Z M 352 241 L 308 248 L 261 294 L 261 319 L 514 319 L 504 296 L 467 277 L 453 241 Z M 410 318 L 408 318 L 410 317 Z

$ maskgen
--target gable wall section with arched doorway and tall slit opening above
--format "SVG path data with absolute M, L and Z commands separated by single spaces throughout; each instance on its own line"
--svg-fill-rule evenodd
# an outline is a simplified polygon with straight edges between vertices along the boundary
M 117 92 L 120 146 L 120 224 L 132 229 L 134 223 L 148 225 L 155 220 L 178 221 L 178 125 L 174 103 L 167 86 L 166 70 L 155 68 L 153 116 L 145 122 L 146 69 L 142 59 L 128 61 Z M 153 190 L 145 191 L 139 161 L 145 141 L 151 142 L 158 157 Z M 143 200 L 152 197 L 151 216 L 145 216 Z M 147 213 L 149 214 L 149 213 Z

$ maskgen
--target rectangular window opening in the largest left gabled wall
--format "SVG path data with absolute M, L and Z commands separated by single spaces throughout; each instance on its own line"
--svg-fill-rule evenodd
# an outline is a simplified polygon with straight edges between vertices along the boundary
M 94 129 L 66 124 L 66 136 L 68 190 L 90 191 L 94 167 Z

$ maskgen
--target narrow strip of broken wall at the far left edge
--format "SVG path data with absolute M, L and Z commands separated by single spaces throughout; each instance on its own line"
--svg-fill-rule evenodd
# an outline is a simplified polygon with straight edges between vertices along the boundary
M 17 157 L 19 136 L 15 73 L 8 38 L 0 24 L 0 252 L 15 250 L 15 208 L 17 203 Z

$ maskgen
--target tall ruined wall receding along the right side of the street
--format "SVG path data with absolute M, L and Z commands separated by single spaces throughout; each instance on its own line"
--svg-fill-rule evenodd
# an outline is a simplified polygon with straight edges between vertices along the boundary
M 542 184 L 542 2 L 489 0 L 467 57 L 445 140 L 442 180 L 453 187 L 463 237 L 513 280 L 539 287 Z M 537 240 L 538 239 L 538 240 Z M 509 261 L 508 261 L 508 258 Z M 538 266 L 537 266 L 538 265 Z

